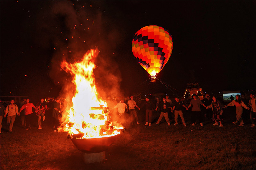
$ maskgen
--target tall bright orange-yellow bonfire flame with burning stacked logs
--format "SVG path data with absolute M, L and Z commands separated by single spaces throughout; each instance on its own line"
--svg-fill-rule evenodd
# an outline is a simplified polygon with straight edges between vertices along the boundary
M 62 125 L 69 135 L 84 134 L 81 138 L 99 138 L 117 135 L 123 127 L 113 126 L 109 120 L 107 103 L 98 95 L 93 69 L 97 49 L 88 51 L 80 62 L 64 60 L 61 68 L 73 76 L 76 92 L 69 110 L 64 110 Z M 66 113 L 66 114 L 65 114 Z

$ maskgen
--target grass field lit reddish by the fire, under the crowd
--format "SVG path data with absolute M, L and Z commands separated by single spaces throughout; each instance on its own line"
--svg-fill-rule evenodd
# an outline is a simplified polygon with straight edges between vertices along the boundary
M 13 131 L 7 132 L 3 119 L 1 133 L 1 170 L 8 169 L 256 169 L 256 128 L 250 128 L 249 116 L 238 127 L 235 108 L 224 109 L 224 127 L 190 124 L 189 112 L 184 112 L 187 127 L 167 126 L 159 114 L 153 114 L 152 126 L 145 126 L 145 114 L 139 112 L 140 125 L 127 127 L 106 151 L 102 163 L 85 164 L 83 153 L 76 149 L 67 133 L 54 132 L 49 119 L 43 129 L 37 121 L 26 131 L 16 117 Z M 181 122 L 180 117 L 178 118 Z

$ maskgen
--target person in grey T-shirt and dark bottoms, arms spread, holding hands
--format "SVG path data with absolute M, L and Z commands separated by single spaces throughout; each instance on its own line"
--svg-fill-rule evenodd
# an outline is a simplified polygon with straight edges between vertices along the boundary
M 196 124 L 196 117 L 199 119 L 200 125 L 203 126 L 203 115 L 200 109 L 200 105 L 203 105 L 205 108 L 206 106 L 204 105 L 204 103 L 197 99 L 196 94 L 192 95 L 193 99 L 190 101 L 190 104 L 188 106 L 188 108 L 186 110 L 189 109 L 189 107 L 192 107 L 192 115 L 191 115 L 191 123 L 192 126 L 195 126 Z

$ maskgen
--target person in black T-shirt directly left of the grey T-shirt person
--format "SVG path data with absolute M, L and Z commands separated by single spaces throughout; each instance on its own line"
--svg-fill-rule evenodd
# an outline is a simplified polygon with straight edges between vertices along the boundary
M 183 125 L 186 127 L 187 125 L 185 124 L 185 120 L 183 117 L 183 112 L 182 112 L 182 106 L 185 107 L 187 109 L 187 107 L 184 105 L 184 103 L 182 101 L 179 100 L 178 97 L 175 97 L 175 101 L 173 102 L 173 108 L 172 108 L 172 112 L 174 110 L 174 121 L 175 124 L 174 126 L 178 125 L 178 115 L 180 115 L 180 118 L 183 122 Z

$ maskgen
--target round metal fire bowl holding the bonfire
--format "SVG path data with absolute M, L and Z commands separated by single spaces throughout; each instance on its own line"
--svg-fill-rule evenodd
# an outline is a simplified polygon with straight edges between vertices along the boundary
M 108 149 L 108 147 L 116 140 L 117 135 L 92 139 L 76 139 L 76 136 L 79 137 L 80 135 L 73 134 L 71 141 L 78 150 L 84 153 L 100 153 Z

